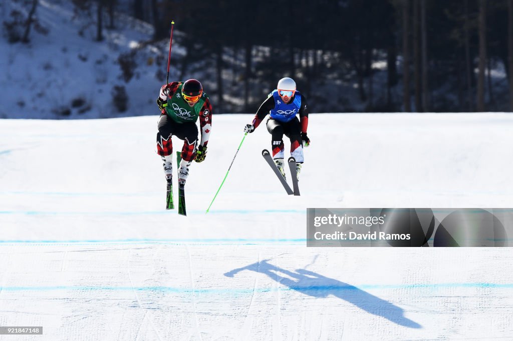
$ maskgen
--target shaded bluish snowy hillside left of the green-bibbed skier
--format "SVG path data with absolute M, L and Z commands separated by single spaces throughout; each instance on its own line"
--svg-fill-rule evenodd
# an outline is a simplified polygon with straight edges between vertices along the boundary
M 146 54 L 130 55 L 141 41 L 150 39 L 149 24 L 118 13 L 117 25 L 124 29 L 105 30 L 105 40 L 97 42 L 94 25 L 83 16 L 75 17 L 71 4 L 40 1 L 37 17 L 47 35 L 34 32 L 27 45 L 0 39 L 0 50 L 5 52 L 0 54 L 0 118 L 106 118 L 155 112 L 155 93 L 165 81 L 165 68 L 161 68 L 164 78 L 156 77 L 155 58 L 164 51 L 148 48 Z M 180 54 L 180 49 L 173 52 Z M 123 77 L 121 55 L 127 63 L 141 65 L 130 81 Z M 125 88 L 125 112 L 113 103 L 115 87 Z

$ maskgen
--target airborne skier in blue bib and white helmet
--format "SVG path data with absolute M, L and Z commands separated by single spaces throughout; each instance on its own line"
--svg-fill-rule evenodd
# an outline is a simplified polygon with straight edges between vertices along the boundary
M 277 89 L 273 90 L 260 105 L 251 124 L 246 124 L 244 127 L 244 132 L 252 133 L 267 114 L 270 116 L 267 119 L 267 130 L 272 136 L 271 149 L 274 163 L 285 177 L 283 168 L 285 156 L 283 135 L 285 135 L 290 139 L 290 155 L 295 158 L 299 179 L 304 162 L 303 146 L 307 147 L 310 144 L 310 139 L 306 135 L 308 107 L 305 96 L 296 90 L 295 81 L 292 78 L 280 79 Z M 301 121 L 297 117 L 298 114 Z

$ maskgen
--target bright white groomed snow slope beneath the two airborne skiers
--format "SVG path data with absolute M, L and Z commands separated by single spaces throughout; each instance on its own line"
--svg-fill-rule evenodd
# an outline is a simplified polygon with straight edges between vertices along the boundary
M 513 335 L 509 248 L 305 241 L 307 207 L 511 207 L 511 115 L 311 115 L 301 197 L 261 160 L 262 126 L 205 214 L 251 117 L 213 118 L 187 217 L 163 209 L 157 117 L 2 120 L 0 326 L 43 326 L 38 340 Z

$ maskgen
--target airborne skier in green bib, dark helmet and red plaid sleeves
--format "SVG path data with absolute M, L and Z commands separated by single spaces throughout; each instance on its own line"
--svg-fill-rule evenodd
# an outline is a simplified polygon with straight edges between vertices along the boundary
M 164 174 L 168 183 L 173 174 L 172 136 L 184 141 L 182 161 L 178 171 L 178 181 L 185 184 L 192 160 L 202 162 L 207 155 L 207 143 L 212 124 L 212 105 L 201 83 L 196 79 L 185 82 L 171 82 L 161 88 L 157 104 L 161 110 L 159 132 L 157 133 L 157 154 L 164 161 Z M 198 144 L 200 118 L 201 142 Z

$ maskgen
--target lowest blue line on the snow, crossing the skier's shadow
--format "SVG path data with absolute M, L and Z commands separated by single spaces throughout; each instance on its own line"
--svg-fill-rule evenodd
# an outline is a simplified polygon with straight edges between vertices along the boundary
M 0 287 L 0 291 L 55 291 L 55 290 L 78 290 L 78 291 L 160 291 L 169 293 L 192 293 L 192 294 L 251 294 L 253 292 L 275 292 L 275 291 L 339 291 L 339 290 L 364 290 L 364 289 L 448 289 L 448 288 L 495 288 L 513 289 L 513 283 L 433 283 L 433 284 L 363 284 L 357 286 L 291 286 L 291 287 L 270 287 L 270 288 L 177 288 L 165 286 L 148 287 L 115 287 L 115 286 L 34 286 L 34 287 Z

